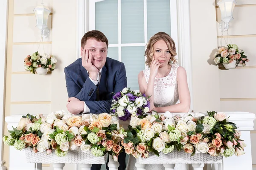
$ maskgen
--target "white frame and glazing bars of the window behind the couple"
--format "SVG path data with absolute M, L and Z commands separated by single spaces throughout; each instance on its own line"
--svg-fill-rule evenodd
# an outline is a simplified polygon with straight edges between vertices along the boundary
M 80 57 L 80 40 L 83 35 L 90 30 L 95 29 L 95 3 L 103 0 L 77 0 L 77 54 Z M 145 46 L 148 41 L 147 18 L 146 18 L 146 0 L 144 0 L 144 43 L 121 43 L 121 11 L 118 10 L 118 44 L 110 44 L 109 47 L 118 47 L 118 59 L 122 61 L 121 46 Z M 121 6 L 121 0 L 118 0 L 118 6 Z M 176 43 L 177 58 L 179 65 L 184 67 L 187 72 L 187 81 L 191 96 L 190 111 L 193 110 L 192 95 L 192 56 L 191 56 L 191 36 L 190 36 L 190 0 L 170 0 L 170 11 L 177 11 L 177 16 L 171 14 L 171 35 Z M 120 9 L 120 8 L 119 8 Z M 172 13 L 172 12 L 171 12 Z M 90 18 L 89 18 L 90 16 Z M 145 65 L 146 68 L 146 65 Z

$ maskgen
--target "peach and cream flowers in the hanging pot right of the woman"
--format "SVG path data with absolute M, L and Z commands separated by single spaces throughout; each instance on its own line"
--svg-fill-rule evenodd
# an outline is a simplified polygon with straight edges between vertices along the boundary
M 214 56 L 215 64 L 232 63 L 237 61 L 241 65 L 245 66 L 245 62 L 249 61 L 249 59 L 247 59 L 247 54 L 238 48 L 236 44 L 229 44 L 227 47 L 219 48 L 218 52 L 216 52 Z

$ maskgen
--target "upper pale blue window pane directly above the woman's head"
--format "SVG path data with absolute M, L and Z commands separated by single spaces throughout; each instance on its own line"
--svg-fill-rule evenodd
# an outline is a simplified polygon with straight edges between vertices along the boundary
M 171 35 L 170 0 L 147 0 L 148 40 L 157 32 Z

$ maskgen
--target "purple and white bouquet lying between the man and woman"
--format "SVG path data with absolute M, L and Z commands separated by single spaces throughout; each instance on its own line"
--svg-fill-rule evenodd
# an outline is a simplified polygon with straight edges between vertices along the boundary
M 150 102 L 145 94 L 124 88 L 113 96 L 111 113 L 120 120 L 128 121 L 131 116 L 143 116 L 149 111 Z

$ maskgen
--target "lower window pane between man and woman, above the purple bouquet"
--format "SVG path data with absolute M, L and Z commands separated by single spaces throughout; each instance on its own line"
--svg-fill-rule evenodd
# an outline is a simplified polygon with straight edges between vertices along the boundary
M 139 90 L 138 74 L 145 69 L 144 46 L 122 47 L 122 62 L 125 64 L 127 85 Z

